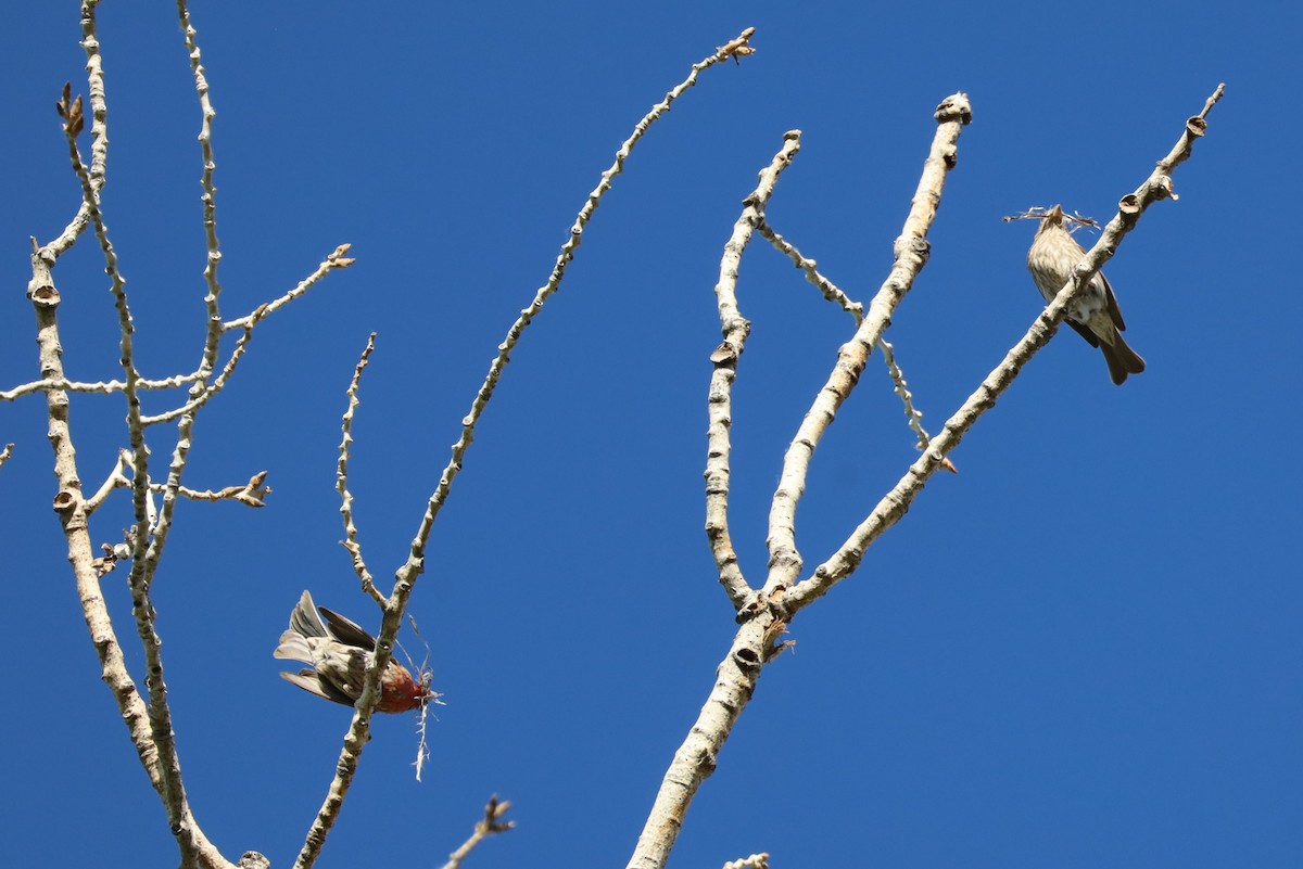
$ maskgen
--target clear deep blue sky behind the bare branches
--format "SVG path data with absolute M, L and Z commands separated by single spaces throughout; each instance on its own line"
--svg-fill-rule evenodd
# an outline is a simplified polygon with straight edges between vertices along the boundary
M 408 765 L 410 721 L 379 722 L 318 865 L 439 865 L 493 792 L 520 826 L 470 865 L 628 859 L 734 632 L 701 531 L 711 287 L 784 130 L 804 131 L 803 151 L 769 219 L 866 301 L 933 107 L 968 92 L 932 259 L 887 334 L 936 431 L 1040 310 L 1032 224 L 999 217 L 1062 202 L 1108 219 L 1224 81 L 1175 176 L 1179 202 L 1145 213 L 1106 269 L 1148 371 L 1115 388 L 1075 334 L 1052 341 L 954 454 L 960 475 L 934 479 L 795 621 L 795 653 L 766 670 L 671 865 L 754 851 L 774 866 L 1303 864 L 1300 130 L 1286 73 L 1299 22 L 1285 8 L 197 3 L 219 112 L 224 312 L 281 294 L 340 242 L 358 259 L 259 327 L 201 416 L 188 483 L 266 468 L 268 506 L 185 505 L 156 580 L 208 836 L 289 865 L 348 722 L 276 678 L 271 649 L 304 588 L 378 622 L 336 544 L 334 493 L 366 336 L 379 333 L 352 480 L 369 563 L 388 579 L 494 347 L 615 148 L 692 62 L 754 26 L 757 55 L 706 72 L 635 151 L 513 355 L 413 597 L 448 702 L 425 782 Z M 27 237 L 48 241 L 77 207 L 52 105 L 65 81 L 86 86 L 74 4 L 3 16 L 9 388 L 36 375 Z M 205 289 L 185 52 L 165 5 L 106 4 L 100 22 L 104 207 L 138 351 L 151 376 L 189 371 Z M 87 239 L 56 278 L 69 372 L 115 376 Z M 753 332 L 732 527 L 760 582 L 782 451 L 852 324 L 760 241 L 739 291 Z M 119 397 L 73 403 L 89 488 L 122 445 L 121 418 Z M 79 617 L 44 431 L 39 401 L 0 406 L 0 442 L 17 445 L 0 468 L 18 667 L 0 715 L 7 852 L 172 865 Z M 913 458 L 870 360 L 814 458 L 805 563 Z M 96 540 L 128 520 L 120 498 L 95 516 Z M 121 574 L 104 584 L 138 663 Z

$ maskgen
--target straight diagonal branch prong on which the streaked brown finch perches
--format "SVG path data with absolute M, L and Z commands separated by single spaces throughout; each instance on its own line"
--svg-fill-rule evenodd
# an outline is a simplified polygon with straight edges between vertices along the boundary
M 942 459 L 954 450 L 963 440 L 964 434 L 977 423 L 982 414 L 995 406 L 995 401 L 1003 394 L 1018 372 L 1022 371 L 1036 353 L 1044 347 L 1054 336 L 1055 329 L 1067 312 L 1075 293 L 1080 287 L 1089 285 L 1091 278 L 1104 264 L 1113 258 L 1122 239 L 1135 226 L 1140 213 L 1149 204 L 1171 196 L 1173 168 L 1188 159 L 1194 139 L 1203 135 L 1207 129 L 1205 117 L 1208 111 L 1221 99 L 1222 85 L 1218 85 L 1213 95 L 1204 105 L 1204 111 L 1186 122 L 1186 131 L 1182 133 L 1177 147 L 1158 161 L 1157 168 L 1145 181 L 1136 187 L 1135 193 L 1127 194 L 1118 203 L 1118 213 L 1104 228 L 1104 233 L 1095 246 L 1085 254 L 1085 258 L 1072 271 L 1072 278 L 1065 284 L 1054 301 L 1032 323 L 1027 334 L 1005 355 L 997 366 L 968 397 L 968 399 L 946 420 L 941 433 L 932 440 L 930 449 L 916 461 L 904 476 L 883 496 L 873 511 L 856 527 L 842 546 L 833 553 L 822 565 L 814 568 L 814 575 L 801 580 L 783 598 L 787 613 L 796 613 L 804 609 L 816 598 L 827 593 L 838 582 L 850 576 L 865 550 L 882 533 L 894 526 L 913 503 L 913 500 L 926 485 L 932 474 L 941 466 Z

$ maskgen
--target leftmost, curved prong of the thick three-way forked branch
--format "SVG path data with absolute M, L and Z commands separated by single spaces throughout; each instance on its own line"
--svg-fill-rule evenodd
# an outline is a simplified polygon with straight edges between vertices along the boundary
M 732 536 L 728 532 L 728 483 L 732 451 L 732 386 L 737 379 L 737 360 L 747 346 L 751 323 L 737 307 L 737 268 L 743 251 L 751 243 L 752 233 L 765 224 L 765 206 L 774 193 L 778 177 L 791 165 L 801 150 L 801 131 L 790 130 L 783 135 L 783 147 L 760 173 L 756 189 L 743 199 L 743 211 L 734 224 L 732 235 L 724 243 L 719 260 L 719 282 L 715 284 L 715 303 L 719 308 L 719 329 L 723 342 L 710 354 L 714 371 L 706 389 L 706 539 L 715 559 L 719 584 L 723 585 L 734 609 L 748 605 L 752 588 L 737 563 Z

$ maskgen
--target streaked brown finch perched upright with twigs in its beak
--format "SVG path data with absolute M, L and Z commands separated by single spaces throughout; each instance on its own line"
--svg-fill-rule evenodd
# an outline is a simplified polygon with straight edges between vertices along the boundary
M 1063 209 L 1054 206 L 1041 219 L 1036 238 L 1032 239 L 1032 248 L 1027 251 L 1027 268 L 1031 269 L 1036 289 L 1046 302 L 1054 301 L 1063 285 L 1072 278 L 1072 269 L 1083 259 L 1085 251 L 1063 228 Z M 1104 277 L 1104 272 L 1096 272 L 1091 285 L 1078 293 L 1067 306 L 1065 323 L 1076 329 L 1092 347 L 1104 351 L 1113 382 L 1121 385 L 1127 375 L 1139 375 L 1144 371 L 1144 359 L 1128 347 L 1119 334 L 1126 330 L 1127 324 L 1122 320 L 1118 301 L 1113 297 L 1113 287 L 1109 286 L 1109 278 Z

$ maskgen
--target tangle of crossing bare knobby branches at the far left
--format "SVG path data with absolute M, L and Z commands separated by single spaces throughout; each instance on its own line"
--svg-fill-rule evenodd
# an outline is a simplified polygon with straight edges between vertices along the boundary
M 99 190 L 103 186 L 104 167 L 107 163 L 107 100 L 102 62 L 99 55 L 99 40 L 96 36 L 98 1 L 86 0 L 82 4 L 82 44 L 87 53 L 87 73 L 90 85 L 91 124 L 91 164 L 86 167 L 77 147 L 77 134 L 82 129 L 81 99 L 72 99 L 70 87 L 65 88 L 63 100 L 59 104 L 60 114 L 65 121 L 65 134 L 68 139 L 69 157 L 73 169 L 82 186 L 82 204 L 77 217 L 65 228 L 64 233 L 44 248 L 38 248 L 33 242 L 33 280 L 29 285 L 29 298 L 36 308 L 38 319 L 38 349 L 40 353 L 42 380 L 27 384 L 5 393 L 5 398 L 16 398 L 21 394 L 43 392 L 46 394 L 47 411 L 51 420 L 51 444 L 55 450 L 56 476 L 60 481 L 60 492 L 55 506 L 63 520 L 65 536 L 69 545 L 69 558 L 78 583 L 78 592 L 82 600 L 87 627 L 100 654 L 100 665 L 104 680 L 113 692 L 115 699 L 122 710 L 122 718 L 128 725 L 133 743 L 141 756 L 142 765 L 150 775 L 150 781 L 159 791 L 164 807 L 168 812 L 169 827 L 176 835 L 181 851 L 181 865 L 229 866 L 229 861 L 207 842 L 202 830 L 194 821 L 190 812 L 185 790 L 181 783 L 180 762 L 176 753 L 175 736 L 172 732 L 171 712 L 167 704 L 167 687 L 163 680 L 163 665 L 159 656 L 160 639 L 154 628 L 155 613 L 150 601 L 150 583 L 158 566 L 158 559 L 163 550 L 167 531 L 171 527 L 172 511 L 177 497 L 192 497 L 203 500 L 232 498 L 259 506 L 263 496 L 270 489 L 263 487 L 263 475 L 255 475 L 242 487 L 229 487 L 220 492 L 197 492 L 181 485 L 181 472 L 186 463 L 186 454 L 190 448 L 192 427 L 194 411 L 201 407 L 207 398 L 220 390 L 227 377 L 240 359 L 244 346 L 249 338 L 249 330 L 257 317 L 245 325 L 245 334 L 236 345 L 232 359 L 227 363 L 222 375 L 210 385 L 218 342 L 223 333 L 220 317 L 218 315 L 216 298 L 220 286 L 216 284 L 216 264 L 220 259 L 215 232 L 212 211 L 212 154 L 210 147 L 210 121 L 212 109 L 207 100 L 207 85 L 203 79 L 202 65 L 199 64 L 198 47 L 194 43 L 194 29 L 189 23 L 185 3 L 179 3 L 182 30 L 186 35 L 186 47 L 190 53 L 192 66 L 195 72 L 197 90 L 201 107 L 203 108 L 203 130 L 201 133 L 201 146 L 203 148 L 203 196 L 205 196 L 205 226 L 208 237 L 208 268 L 206 269 L 208 294 L 208 330 L 205 345 L 203 362 L 194 375 L 176 376 L 165 381 L 145 381 L 139 375 L 139 368 L 134 355 L 134 324 L 130 306 L 125 291 L 125 280 L 119 265 L 117 254 L 109 241 L 104 216 L 99 207 Z M 78 384 L 69 381 L 63 371 L 61 350 L 59 343 L 57 306 L 59 291 L 52 278 L 52 268 L 61 252 L 68 250 L 77 239 L 78 234 L 91 226 L 99 241 L 104 255 L 106 273 L 109 277 L 111 293 L 117 311 L 119 327 L 121 332 L 121 364 L 125 373 L 122 381 L 109 381 L 100 384 Z M 343 260 L 343 250 L 336 251 L 332 261 L 326 268 L 340 268 L 349 260 Z M 321 269 L 324 273 L 326 268 Z M 263 311 L 265 312 L 265 311 Z M 259 315 L 263 312 L 258 312 Z M 190 402 L 179 411 L 164 415 L 164 419 L 180 416 L 179 437 L 173 459 L 169 466 L 168 480 L 159 487 L 150 483 L 149 475 L 149 449 L 145 442 L 145 427 L 152 421 L 164 419 L 143 418 L 139 407 L 139 390 L 151 388 L 172 388 L 181 384 L 193 384 L 190 389 Z M 66 389 L 65 389 L 66 388 Z M 72 446 L 72 434 L 68 425 L 68 392 L 103 392 L 106 394 L 121 393 L 128 405 L 128 434 L 130 450 L 120 454 L 113 472 L 104 485 L 86 501 L 82 497 L 79 476 L 76 467 L 76 451 Z M 130 479 L 126 477 L 126 464 L 132 467 Z M 121 487 L 132 489 L 134 509 L 134 529 L 128 535 L 129 545 L 106 548 L 103 558 L 94 558 L 90 546 L 86 519 L 108 494 Z M 156 511 L 152 501 L 152 492 L 163 490 L 163 507 Z M 137 632 L 141 636 L 145 650 L 145 684 L 149 688 L 146 701 L 137 692 L 130 678 L 121 650 L 117 647 L 112 626 L 108 621 L 103 595 L 99 587 L 99 576 L 112 568 L 112 565 L 124 557 L 132 559 L 132 570 L 128 585 L 132 591 L 133 615 L 136 617 Z M 253 852 L 250 852 L 253 853 Z M 254 855 L 257 856 L 257 855 Z

